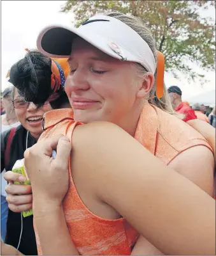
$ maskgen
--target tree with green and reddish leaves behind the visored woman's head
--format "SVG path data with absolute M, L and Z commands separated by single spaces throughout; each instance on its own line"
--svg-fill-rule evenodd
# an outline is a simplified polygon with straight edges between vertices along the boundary
M 194 80 L 204 76 L 192 63 L 203 70 L 215 69 L 215 23 L 210 17 L 201 17 L 202 10 L 208 8 L 215 8 L 215 1 L 67 1 L 61 12 L 73 12 L 77 26 L 104 11 L 140 17 L 165 56 L 166 71 L 175 77 L 178 71 L 184 72 Z

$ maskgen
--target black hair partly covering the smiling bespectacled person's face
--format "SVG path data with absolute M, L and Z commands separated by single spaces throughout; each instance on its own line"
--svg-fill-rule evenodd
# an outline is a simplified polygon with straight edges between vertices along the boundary
M 15 63 L 10 69 L 10 83 L 26 101 L 31 101 L 38 106 L 52 95 L 51 88 L 52 60 L 39 51 L 29 51 L 22 60 Z M 57 100 L 50 102 L 55 108 L 60 108 L 62 103 L 68 101 L 66 93 L 61 92 Z

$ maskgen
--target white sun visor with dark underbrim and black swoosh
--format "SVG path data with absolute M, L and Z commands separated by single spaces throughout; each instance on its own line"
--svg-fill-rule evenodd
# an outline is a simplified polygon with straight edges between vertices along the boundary
M 38 36 L 37 47 L 47 56 L 69 58 L 73 39 L 77 36 L 113 58 L 140 63 L 155 73 L 154 55 L 147 42 L 124 22 L 106 15 L 91 17 L 79 28 L 48 26 Z

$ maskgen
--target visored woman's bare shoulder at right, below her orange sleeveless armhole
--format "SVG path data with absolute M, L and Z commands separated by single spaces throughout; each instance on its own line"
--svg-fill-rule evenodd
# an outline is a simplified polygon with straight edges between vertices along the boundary
M 188 148 L 175 157 L 169 166 L 213 196 L 215 162 L 209 148 L 202 145 Z

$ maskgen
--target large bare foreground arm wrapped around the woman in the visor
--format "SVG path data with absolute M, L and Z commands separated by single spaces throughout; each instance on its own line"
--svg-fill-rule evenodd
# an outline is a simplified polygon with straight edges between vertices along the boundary
M 101 200 L 164 254 L 215 253 L 215 201 L 119 127 L 77 127 L 71 164 L 73 175 L 89 175 Z

